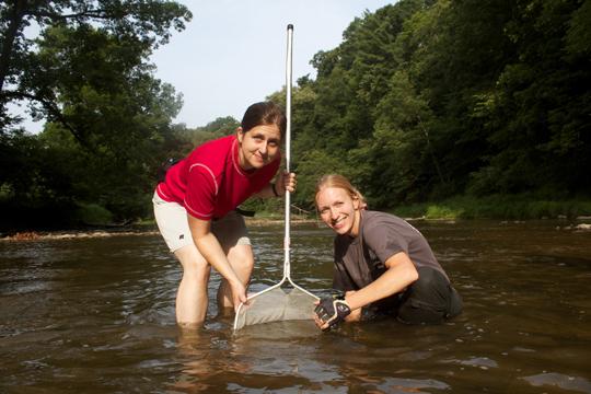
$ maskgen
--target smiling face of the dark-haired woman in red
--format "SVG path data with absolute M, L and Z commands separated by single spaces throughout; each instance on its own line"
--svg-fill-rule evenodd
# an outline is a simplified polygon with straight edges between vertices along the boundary
M 260 169 L 280 152 L 281 131 L 277 125 L 259 125 L 246 132 L 239 127 L 237 139 L 240 166 L 244 170 Z

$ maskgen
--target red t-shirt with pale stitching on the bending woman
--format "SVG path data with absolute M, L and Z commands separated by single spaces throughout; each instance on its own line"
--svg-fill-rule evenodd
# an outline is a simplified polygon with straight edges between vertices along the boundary
M 178 202 L 198 219 L 222 218 L 275 176 L 281 158 L 255 171 L 239 165 L 239 142 L 228 136 L 197 147 L 173 165 L 157 187 L 165 201 Z

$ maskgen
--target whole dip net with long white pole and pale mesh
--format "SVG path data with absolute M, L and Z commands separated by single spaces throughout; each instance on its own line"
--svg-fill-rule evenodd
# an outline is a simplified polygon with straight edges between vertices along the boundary
M 290 172 L 291 161 L 291 47 L 293 26 L 288 25 L 287 67 L 286 67 L 286 171 Z M 318 298 L 291 280 L 290 274 L 290 193 L 286 192 L 286 234 L 283 240 L 283 277 L 279 283 L 252 294 L 247 303 L 241 303 L 234 318 L 234 331 L 244 326 L 293 320 L 312 320 L 314 303 Z

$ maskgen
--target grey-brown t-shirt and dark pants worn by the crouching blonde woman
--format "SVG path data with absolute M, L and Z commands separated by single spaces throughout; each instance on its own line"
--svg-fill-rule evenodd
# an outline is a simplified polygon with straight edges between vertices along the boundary
M 385 262 L 399 252 L 410 258 L 419 279 L 372 306 L 406 323 L 437 323 L 459 314 L 462 301 L 425 236 L 384 212 L 361 211 L 359 235 L 335 237 L 333 287 L 344 292 L 364 288 L 386 271 Z

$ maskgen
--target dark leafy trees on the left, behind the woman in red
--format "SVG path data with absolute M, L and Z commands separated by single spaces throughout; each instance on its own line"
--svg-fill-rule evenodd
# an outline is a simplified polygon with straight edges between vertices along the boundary
M 4 227 L 62 225 L 89 204 L 115 220 L 147 215 L 157 166 L 183 141 L 171 124 L 182 97 L 148 58 L 188 20 L 172 1 L 0 4 Z M 38 34 L 28 38 L 27 26 Z M 8 103 L 23 101 L 46 121 L 38 136 L 8 115 Z

